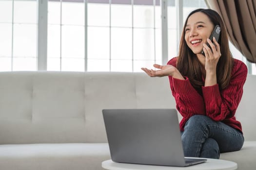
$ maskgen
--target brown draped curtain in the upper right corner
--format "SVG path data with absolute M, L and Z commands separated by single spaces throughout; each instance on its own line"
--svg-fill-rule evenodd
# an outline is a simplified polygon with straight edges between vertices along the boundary
M 222 17 L 229 40 L 247 58 L 256 63 L 256 0 L 205 0 Z

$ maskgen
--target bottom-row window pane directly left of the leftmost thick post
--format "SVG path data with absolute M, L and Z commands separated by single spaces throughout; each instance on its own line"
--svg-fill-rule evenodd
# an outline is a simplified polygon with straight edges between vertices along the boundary
M 37 59 L 36 58 L 23 58 L 23 57 L 14 57 L 13 58 L 13 70 L 37 70 Z

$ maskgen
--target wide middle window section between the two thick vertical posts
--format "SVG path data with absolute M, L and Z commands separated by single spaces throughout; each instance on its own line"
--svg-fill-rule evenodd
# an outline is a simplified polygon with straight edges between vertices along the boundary
M 88 0 L 86 11 L 83 0 L 49 0 L 47 70 L 131 72 L 160 63 L 159 3 Z

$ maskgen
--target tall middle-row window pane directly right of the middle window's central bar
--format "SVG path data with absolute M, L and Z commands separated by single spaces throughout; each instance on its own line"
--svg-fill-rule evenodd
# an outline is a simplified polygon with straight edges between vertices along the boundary
M 88 27 L 88 58 L 109 59 L 109 28 Z

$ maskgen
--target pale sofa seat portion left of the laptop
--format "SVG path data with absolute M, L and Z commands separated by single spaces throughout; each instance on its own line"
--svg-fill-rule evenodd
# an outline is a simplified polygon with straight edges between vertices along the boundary
M 0 170 L 101 170 L 108 159 L 107 143 L 0 145 Z

